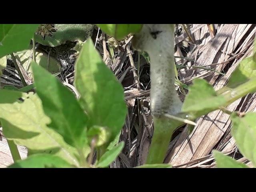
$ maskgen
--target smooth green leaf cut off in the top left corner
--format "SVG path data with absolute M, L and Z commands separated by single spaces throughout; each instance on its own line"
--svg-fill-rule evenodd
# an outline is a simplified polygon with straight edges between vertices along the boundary
M 0 58 L 27 49 L 39 24 L 0 24 Z

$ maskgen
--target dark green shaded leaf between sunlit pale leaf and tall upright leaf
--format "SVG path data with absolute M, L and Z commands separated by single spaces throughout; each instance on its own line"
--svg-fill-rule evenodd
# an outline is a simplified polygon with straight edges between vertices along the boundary
M 87 116 L 75 95 L 35 62 L 32 62 L 32 70 L 44 113 L 52 120 L 48 126 L 61 134 L 68 144 L 82 149 L 87 142 Z

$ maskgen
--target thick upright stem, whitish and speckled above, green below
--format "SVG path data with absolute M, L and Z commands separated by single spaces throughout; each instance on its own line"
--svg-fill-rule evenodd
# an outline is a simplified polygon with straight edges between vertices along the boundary
M 176 116 L 182 106 L 174 86 L 174 25 L 144 24 L 141 32 L 134 36 L 132 45 L 137 50 L 146 51 L 150 57 L 150 109 L 154 134 L 147 164 L 162 163 L 173 131 L 183 124 L 165 117 L 166 114 Z

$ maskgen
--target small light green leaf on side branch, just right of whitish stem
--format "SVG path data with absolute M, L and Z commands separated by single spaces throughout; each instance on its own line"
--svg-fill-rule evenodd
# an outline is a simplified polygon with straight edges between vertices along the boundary
M 189 87 L 182 112 L 194 113 L 199 117 L 225 103 L 224 97 L 217 96 L 214 88 L 206 80 L 195 79 L 193 85 Z

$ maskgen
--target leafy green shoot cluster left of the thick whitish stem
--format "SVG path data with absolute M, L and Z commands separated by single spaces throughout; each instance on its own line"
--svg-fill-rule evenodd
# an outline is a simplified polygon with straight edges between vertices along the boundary
M 121 142 L 107 149 L 124 124 L 126 105 L 122 86 L 102 62 L 91 40 L 82 48 L 76 68 L 75 84 L 82 94 L 79 100 L 58 79 L 33 62 L 37 94 L 23 93 L 22 103 L 12 100 L 13 103 L 0 104 L 4 135 L 29 150 L 29 158 L 13 166 L 41 167 L 44 159 L 46 166 L 106 167 L 124 147 Z M 105 76 L 100 76 L 100 71 L 104 71 Z M 106 92 L 109 88 L 116 92 Z M 16 91 L 0 92 L 4 98 L 10 98 L 10 94 L 20 98 Z M 101 102 L 100 105 L 97 102 Z M 118 117 L 118 121 L 113 121 L 108 112 Z M 104 132 L 109 134 L 105 134 L 105 138 Z M 91 165 L 92 159 L 88 156 L 95 150 L 100 153 L 98 163 Z M 47 155 L 37 155 L 42 153 Z

